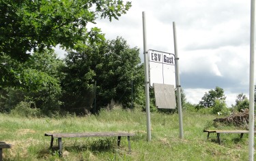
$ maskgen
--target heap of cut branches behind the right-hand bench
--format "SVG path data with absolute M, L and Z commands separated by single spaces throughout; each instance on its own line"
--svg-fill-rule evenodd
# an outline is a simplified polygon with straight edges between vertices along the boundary
M 244 109 L 240 113 L 233 113 L 227 118 L 216 118 L 214 122 L 221 122 L 224 124 L 233 124 L 235 126 L 248 125 L 249 122 L 249 110 Z

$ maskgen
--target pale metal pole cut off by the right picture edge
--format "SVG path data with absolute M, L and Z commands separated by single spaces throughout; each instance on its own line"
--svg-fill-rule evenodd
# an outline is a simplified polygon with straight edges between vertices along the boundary
M 254 150 L 254 39 L 255 39 L 255 0 L 251 0 L 251 35 L 250 35 L 250 85 L 249 85 L 249 160 L 253 161 Z

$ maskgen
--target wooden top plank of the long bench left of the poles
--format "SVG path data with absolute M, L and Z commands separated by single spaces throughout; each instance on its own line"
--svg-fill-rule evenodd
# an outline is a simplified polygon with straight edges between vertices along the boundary
M 132 132 L 67 132 L 67 133 L 45 133 L 44 136 L 51 137 L 128 137 L 134 136 Z

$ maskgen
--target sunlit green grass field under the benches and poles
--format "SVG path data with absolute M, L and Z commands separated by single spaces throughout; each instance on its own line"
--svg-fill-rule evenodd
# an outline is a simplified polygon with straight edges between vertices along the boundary
M 4 160 L 248 160 L 248 135 L 221 135 L 203 132 L 215 128 L 216 115 L 183 112 L 184 139 L 180 139 L 177 113 L 151 113 L 152 141 L 147 141 L 146 115 L 134 110 L 113 109 L 100 115 L 64 118 L 19 118 L 0 114 L 0 141 L 11 143 L 3 149 Z M 221 126 L 221 128 L 234 128 Z M 48 149 L 51 137 L 45 132 L 126 131 L 131 137 L 132 152 L 123 138 L 117 148 L 116 138 L 63 138 L 63 158 L 59 158 L 57 142 Z

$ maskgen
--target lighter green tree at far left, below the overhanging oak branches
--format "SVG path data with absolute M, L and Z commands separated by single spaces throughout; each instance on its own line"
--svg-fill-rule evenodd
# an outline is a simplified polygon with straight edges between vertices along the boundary
M 11 74 L 8 79 L 15 84 L 1 86 L 1 111 L 10 111 L 21 101 L 33 103 L 33 107 L 42 109 L 45 114 L 59 109 L 63 77 L 59 69 L 63 60 L 58 59 L 53 50 L 34 52 L 26 62 L 17 62 L 10 56 L 2 58 L 5 63 L 0 67 Z

